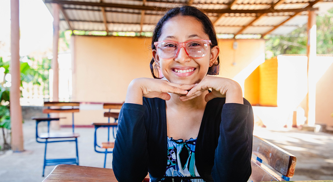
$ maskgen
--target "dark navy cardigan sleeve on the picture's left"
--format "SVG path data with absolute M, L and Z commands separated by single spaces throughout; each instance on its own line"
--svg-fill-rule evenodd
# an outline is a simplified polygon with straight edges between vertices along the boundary
M 146 107 L 125 103 L 120 111 L 113 149 L 113 171 L 120 182 L 142 182 L 148 173 Z

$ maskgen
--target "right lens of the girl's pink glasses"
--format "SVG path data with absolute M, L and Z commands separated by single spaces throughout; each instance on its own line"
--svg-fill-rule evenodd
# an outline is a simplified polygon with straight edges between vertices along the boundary
M 208 44 L 202 40 L 191 41 L 186 44 L 186 51 L 191 57 L 204 57 L 208 51 Z

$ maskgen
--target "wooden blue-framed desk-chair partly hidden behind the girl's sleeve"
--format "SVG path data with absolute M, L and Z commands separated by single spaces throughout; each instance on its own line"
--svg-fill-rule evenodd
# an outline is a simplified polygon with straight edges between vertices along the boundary
M 117 127 L 118 127 L 118 117 L 119 117 L 119 112 L 111 112 L 112 109 L 121 109 L 123 103 L 104 103 L 103 108 L 104 109 L 109 109 L 109 112 L 104 113 L 104 117 L 108 117 L 108 123 L 93 123 L 95 127 L 95 135 L 94 135 L 94 149 L 98 153 L 104 153 L 104 168 L 106 165 L 106 156 L 108 153 L 113 152 L 113 148 L 115 146 L 114 142 L 110 141 L 110 128 L 112 128 L 112 134 L 113 138 L 116 138 L 117 134 Z M 114 122 L 110 123 L 110 118 L 114 118 Z M 102 142 L 101 144 L 98 144 L 97 142 L 97 129 L 99 128 L 107 128 L 108 129 L 108 137 L 107 141 Z M 99 149 L 98 149 L 99 148 Z

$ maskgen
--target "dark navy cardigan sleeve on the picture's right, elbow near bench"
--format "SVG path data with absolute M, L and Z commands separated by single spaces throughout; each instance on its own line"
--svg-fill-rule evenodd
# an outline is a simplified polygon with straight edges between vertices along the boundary
M 245 99 L 244 104 L 226 103 L 221 118 L 212 177 L 216 182 L 246 182 L 251 175 L 252 107 Z

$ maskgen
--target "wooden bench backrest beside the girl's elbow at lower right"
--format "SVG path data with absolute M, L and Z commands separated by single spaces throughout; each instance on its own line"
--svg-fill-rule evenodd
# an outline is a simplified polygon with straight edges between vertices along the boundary
M 250 180 L 254 182 L 289 181 L 289 178 L 294 175 L 295 165 L 296 157 L 293 154 L 265 139 L 253 136 Z M 281 175 L 278 175 L 277 172 Z

